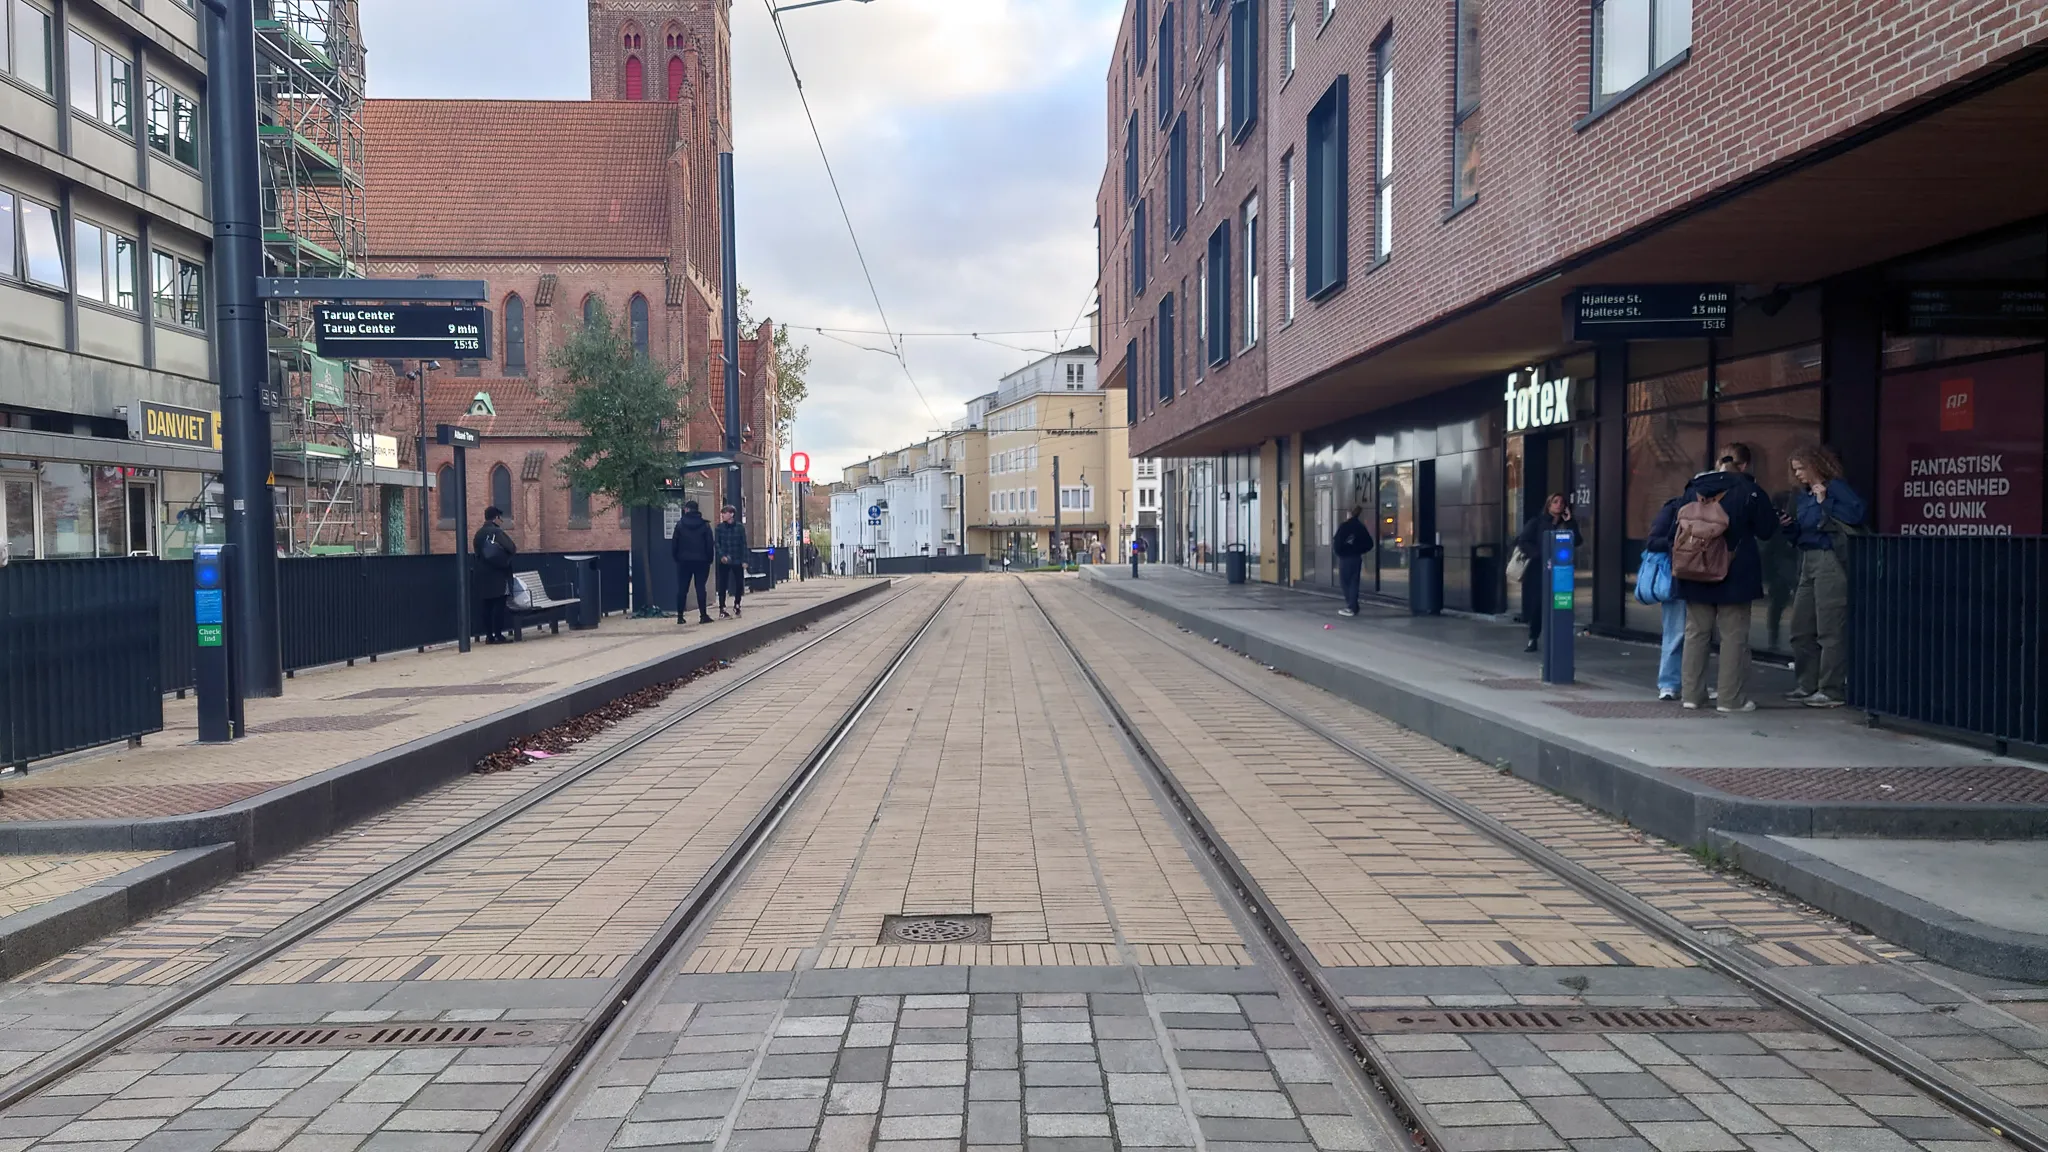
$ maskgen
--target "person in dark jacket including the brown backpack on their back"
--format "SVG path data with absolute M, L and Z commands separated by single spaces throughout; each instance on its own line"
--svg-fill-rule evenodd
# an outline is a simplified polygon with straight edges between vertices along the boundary
M 1749 478 L 1749 447 L 1729 445 L 1718 471 L 1686 486 L 1671 533 L 1671 586 L 1686 601 L 1683 707 L 1706 705 L 1706 658 L 1720 637 L 1720 711 L 1749 699 L 1749 617 L 1763 596 L 1759 541 L 1778 535 L 1772 498 Z

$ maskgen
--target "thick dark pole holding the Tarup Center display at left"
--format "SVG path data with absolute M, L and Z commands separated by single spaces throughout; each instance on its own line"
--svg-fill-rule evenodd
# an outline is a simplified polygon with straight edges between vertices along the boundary
M 270 353 L 256 279 L 262 275 L 262 189 L 256 174 L 256 4 L 205 0 L 207 131 L 213 137 L 213 293 L 221 363 L 221 488 L 236 545 L 236 627 L 250 695 L 285 695 L 276 637 L 276 521 L 270 510 Z

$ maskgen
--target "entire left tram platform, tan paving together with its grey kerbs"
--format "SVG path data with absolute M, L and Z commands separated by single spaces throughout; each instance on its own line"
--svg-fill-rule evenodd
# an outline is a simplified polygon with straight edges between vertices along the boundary
M 748 596 L 745 617 L 387 654 L 311 668 L 248 701 L 248 736 L 199 744 L 197 699 L 164 730 L 0 777 L 0 972 L 168 906 L 238 867 L 455 779 L 516 736 L 735 656 L 885 582 L 809 580 Z M 522 713 L 545 705 L 535 722 Z

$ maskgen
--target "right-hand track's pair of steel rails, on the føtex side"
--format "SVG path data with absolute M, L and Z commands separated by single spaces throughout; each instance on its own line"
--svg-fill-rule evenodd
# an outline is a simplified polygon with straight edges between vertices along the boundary
M 1094 689 L 1094 695 L 1100 699 L 1102 707 L 1110 713 L 1110 717 L 1128 738 L 1130 746 L 1139 752 L 1139 758 L 1145 763 L 1145 769 L 1153 775 L 1159 787 L 1167 793 L 1174 808 L 1186 820 L 1200 851 L 1223 873 L 1227 886 L 1233 890 L 1243 910 L 1251 916 L 1257 929 L 1274 945 L 1274 949 L 1280 955 L 1280 961 L 1288 970 L 1288 976 L 1296 982 L 1298 990 L 1305 992 L 1313 1011 L 1317 1011 L 1323 1017 L 1325 1025 L 1331 1029 L 1337 1043 L 1343 1045 L 1356 1060 L 1362 1078 L 1372 1088 L 1374 1103 L 1384 1109 L 1382 1119 L 1407 1127 L 1407 1132 L 1415 1134 L 1419 1140 L 1425 1140 L 1432 1146 L 1442 1146 L 1440 1136 L 1432 1132 L 1432 1125 L 1425 1119 L 1425 1109 L 1421 1109 L 1415 1101 L 1405 1099 L 1399 1076 L 1389 1074 L 1389 1070 L 1380 1066 L 1374 1054 L 1374 1045 L 1368 1039 L 1370 1033 L 1354 1019 L 1343 996 L 1329 986 L 1327 978 L 1321 972 L 1321 965 L 1313 959 L 1309 947 L 1286 922 L 1286 918 L 1278 912 L 1274 902 L 1266 896 L 1266 892 L 1260 888 L 1257 879 L 1243 865 L 1237 853 L 1217 832 L 1214 824 L 1194 801 L 1188 787 L 1176 777 L 1174 769 L 1167 767 L 1167 760 L 1145 738 L 1139 724 L 1130 717 L 1130 713 L 1122 707 L 1122 703 L 1116 699 L 1110 687 L 1102 681 L 1098 670 L 1081 654 L 1081 648 L 1069 637 L 1065 629 L 1061 629 L 1059 621 L 1053 619 L 1053 613 L 1047 609 L 1044 601 L 1040 601 L 1038 592 L 1030 586 L 1028 580 L 1024 578 L 1020 580 L 1024 582 L 1026 594 L 1030 596 L 1032 605 L 1044 617 L 1047 627 L 1051 627 L 1053 633 L 1059 637 L 1061 646 L 1065 646 L 1067 654 L 1079 666 L 1083 678 Z M 1509 826 L 1507 822 L 1495 818 L 1489 812 L 1479 810 L 1466 799 L 1460 799 L 1458 795 L 1452 795 L 1446 789 L 1421 779 L 1419 775 L 1403 769 L 1401 765 L 1389 760 L 1386 756 L 1380 756 L 1378 752 L 1360 746 L 1346 734 L 1331 730 L 1327 724 L 1321 724 L 1313 715 L 1307 715 L 1288 701 L 1278 699 L 1274 693 L 1257 685 L 1255 678 L 1245 676 L 1241 668 L 1231 668 L 1221 660 L 1217 660 L 1214 656 L 1210 656 L 1208 652 L 1196 652 L 1186 646 L 1174 644 L 1171 637 L 1163 635 L 1161 631 L 1157 631 L 1155 627 L 1137 617 L 1120 617 L 1120 619 L 1128 627 L 1159 642 L 1163 648 L 1182 654 L 1190 664 L 1200 666 L 1202 670 L 1219 676 L 1233 689 L 1249 695 L 1251 699 L 1266 705 L 1286 722 L 1298 726 L 1303 732 L 1309 732 L 1317 740 L 1354 758 L 1368 771 L 1382 775 L 1384 779 L 1397 783 L 1415 797 L 1427 801 L 1430 806 L 1436 806 L 1444 814 L 1466 824 L 1468 828 L 1493 840 L 1501 849 L 1507 849 L 1509 853 L 1513 853 L 1528 865 L 1536 867 L 1538 871 L 1548 873 L 1550 877 L 1563 881 L 1565 886 L 1573 888 L 1587 900 L 1608 908 L 1610 912 L 1634 924 L 1636 929 L 1645 931 L 1647 935 L 1681 949 L 1702 968 L 1733 980 L 1745 990 L 1757 994 L 1767 1004 L 1784 1009 L 1792 1017 L 1800 1019 L 1821 1035 L 1845 1045 L 1849 1052 L 1855 1052 L 1858 1056 L 1864 1056 L 1866 1060 L 1878 1064 L 1880 1068 L 1901 1076 L 1921 1093 L 1954 1109 L 1958 1115 L 1964 1115 L 1970 1121 L 1982 1125 L 1993 1136 L 2003 1138 L 2011 1146 L 2023 1148 L 2025 1152 L 2048 1152 L 2048 1127 L 2044 1127 L 2034 1117 L 2025 1115 L 2021 1109 L 1989 1097 L 1974 1084 L 1964 1082 L 1960 1076 L 1954 1076 L 1952 1072 L 1944 1070 L 1939 1064 L 1917 1052 L 1907 1052 L 1901 1050 L 1901 1045 L 1896 1043 L 1888 1043 L 1888 1037 L 1878 1029 L 1827 1004 L 1817 994 L 1810 994 L 1802 988 L 1794 988 L 1784 980 L 1774 978 L 1772 970 L 1749 959 L 1737 949 L 1710 941 L 1704 933 L 1694 931 L 1692 927 L 1675 920 L 1667 912 L 1655 908 L 1653 904 L 1624 890 L 1622 886 L 1597 875 L 1585 865 L 1579 865 L 1571 857 L 1520 832 L 1518 828 Z

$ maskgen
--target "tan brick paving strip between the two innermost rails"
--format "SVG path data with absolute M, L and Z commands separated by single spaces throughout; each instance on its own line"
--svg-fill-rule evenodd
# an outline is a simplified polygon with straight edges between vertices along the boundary
M 731 898 L 690 972 L 1249 963 L 1022 588 L 973 580 Z M 985 945 L 885 945 L 979 912 Z

